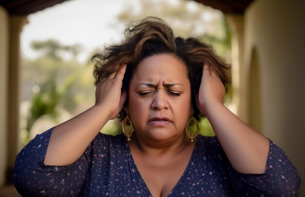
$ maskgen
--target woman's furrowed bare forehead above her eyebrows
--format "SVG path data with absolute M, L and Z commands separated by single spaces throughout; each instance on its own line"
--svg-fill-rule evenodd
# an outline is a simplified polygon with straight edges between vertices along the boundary
M 138 64 L 133 80 L 147 82 L 189 82 L 187 68 L 181 59 L 169 54 L 153 55 Z

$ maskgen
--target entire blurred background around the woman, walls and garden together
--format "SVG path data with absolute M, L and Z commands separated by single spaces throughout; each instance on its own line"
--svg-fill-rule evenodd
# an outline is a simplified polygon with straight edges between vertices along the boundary
M 26 0 L 0 1 L 0 197 L 18 196 L 10 174 L 31 139 L 94 105 L 93 54 L 146 16 L 213 45 L 232 64 L 225 104 L 283 148 L 305 179 L 304 2 L 57 1 L 33 13 L 12 9 Z M 202 135 L 214 135 L 207 119 L 200 126 Z M 112 120 L 101 132 L 120 131 Z

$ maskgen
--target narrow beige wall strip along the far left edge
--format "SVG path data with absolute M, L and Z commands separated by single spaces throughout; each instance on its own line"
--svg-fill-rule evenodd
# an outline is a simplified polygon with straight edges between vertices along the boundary
M 8 14 L 0 6 L 0 187 L 5 182 L 7 153 L 7 67 L 8 67 Z

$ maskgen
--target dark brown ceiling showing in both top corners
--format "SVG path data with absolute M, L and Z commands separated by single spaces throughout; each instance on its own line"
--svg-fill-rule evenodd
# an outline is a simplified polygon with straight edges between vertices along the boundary
M 66 0 L 0 0 L 11 16 L 29 15 Z M 224 13 L 242 14 L 253 0 L 195 0 Z

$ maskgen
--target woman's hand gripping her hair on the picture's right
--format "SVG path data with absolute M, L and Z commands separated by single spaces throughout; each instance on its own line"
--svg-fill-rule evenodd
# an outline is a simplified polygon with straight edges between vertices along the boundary
M 224 84 L 221 82 L 210 64 L 205 63 L 203 65 L 198 97 L 196 98 L 196 104 L 200 113 L 207 116 L 207 107 L 213 103 L 223 104 L 224 97 Z

